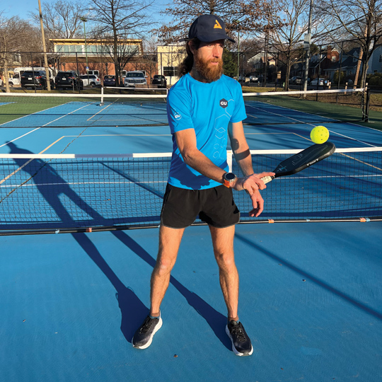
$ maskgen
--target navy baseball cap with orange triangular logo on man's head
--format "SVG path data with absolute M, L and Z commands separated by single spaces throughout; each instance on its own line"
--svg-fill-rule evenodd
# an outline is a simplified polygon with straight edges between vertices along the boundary
M 182 38 L 179 41 L 189 41 L 197 37 L 203 42 L 212 42 L 216 40 L 229 40 L 235 42 L 226 34 L 226 25 L 224 21 L 215 15 L 199 16 L 191 25 L 188 32 L 188 38 Z

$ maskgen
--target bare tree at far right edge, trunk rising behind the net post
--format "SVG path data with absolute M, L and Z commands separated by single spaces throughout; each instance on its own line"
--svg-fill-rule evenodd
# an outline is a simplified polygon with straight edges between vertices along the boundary
M 369 59 L 382 42 L 382 0 L 320 0 L 316 7 L 333 40 L 338 41 L 339 36 L 358 40 L 360 86 L 366 86 Z M 357 74 L 354 83 L 357 85 Z

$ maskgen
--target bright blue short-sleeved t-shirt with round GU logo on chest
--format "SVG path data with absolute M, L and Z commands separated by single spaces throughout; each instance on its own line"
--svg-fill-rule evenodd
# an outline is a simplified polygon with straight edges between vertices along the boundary
M 228 123 L 241 122 L 247 117 L 240 84 L 224 75 L 212 83 L 203 83 L 186 74 L 168 92 L 167 115 L 173 134 L 168 183 L 190 190 L 221 185 L 187 166 L 174 133 L 194 129 L 197 149 L 216 166 L 227 171 Z

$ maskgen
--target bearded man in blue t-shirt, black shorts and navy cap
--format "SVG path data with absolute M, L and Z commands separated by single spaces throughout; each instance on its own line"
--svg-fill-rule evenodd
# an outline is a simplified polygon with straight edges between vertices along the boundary
M 139 349 L 151 345 L 161 328 L 161 301 L 170 282 L 180 241 L 197 216 L 209 225 L 214 255 L 219 266 L 221 290 L 228 310 L 226 332 L 239 356 L 250 355 L 253 347 L 238 318 L 238 271 L 233 255 L 235 224 L 240 213 L 232 189 L 246 190 L 253 202 L 250 216 L 263 209 L 260 179 L 274 173 L 253 173 L 245 140 L 243 94 L 239 83 L 222 75 L 224 22 L 214 15 L 199 16 L 192 23 L 187 41 L 183 76 L 168 93 L 168 123 L 173 134 L 173 156 L 163 198 L 159 250 L 151 275 L 150 314 L 134 334 Z M 228 172 L 227 132 L 243 178 Z

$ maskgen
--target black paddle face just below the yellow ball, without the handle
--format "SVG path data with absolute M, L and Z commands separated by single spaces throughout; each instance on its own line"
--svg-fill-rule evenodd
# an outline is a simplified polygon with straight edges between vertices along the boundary
M 273 171 L 275 173 L 274 178 L 299 173 L 299 171 L 304 168 L 328 158 L 328 156 L 331 156 L 334 152 L 335 145 L 331 142 L 313 144 L 313 146 L 308 147 L 308 149 L 300 151 L 298 154 L 294 154 L 294 156 L 279 163 L 279 166 Z

